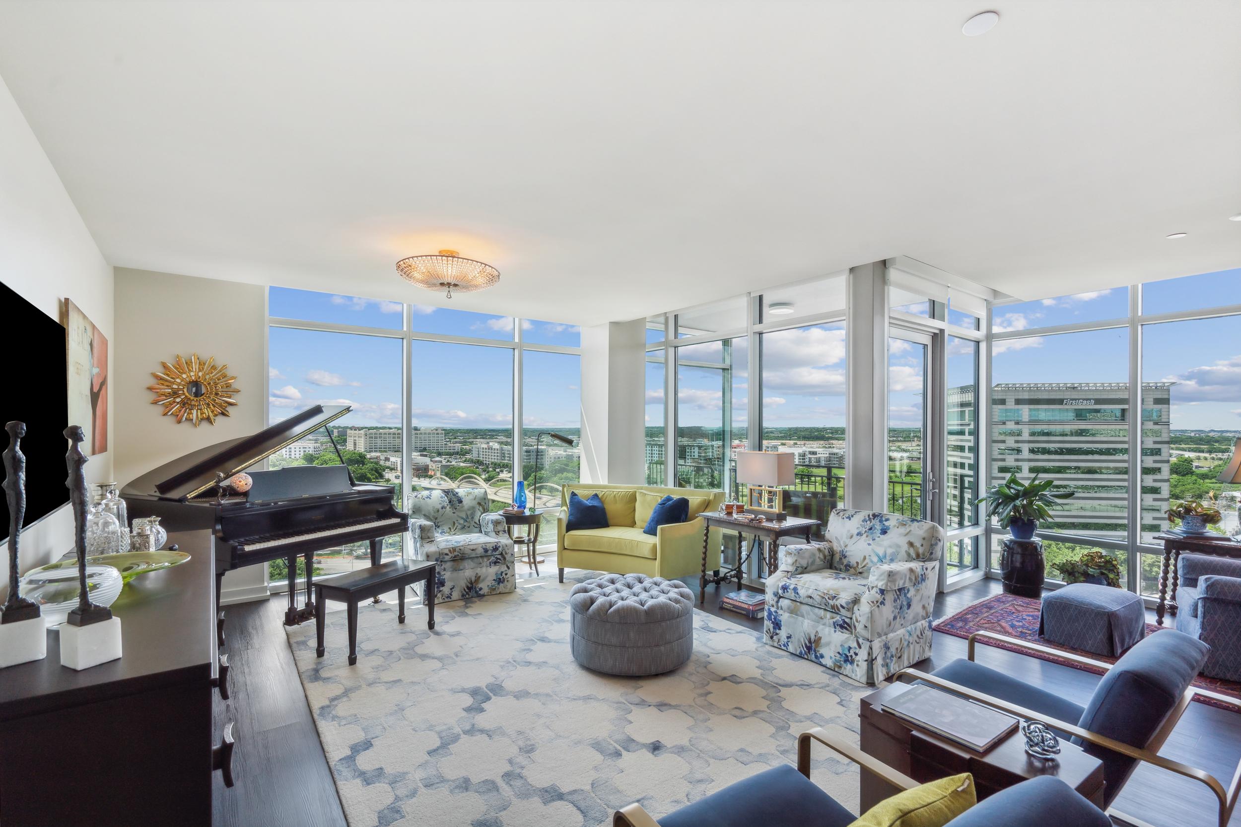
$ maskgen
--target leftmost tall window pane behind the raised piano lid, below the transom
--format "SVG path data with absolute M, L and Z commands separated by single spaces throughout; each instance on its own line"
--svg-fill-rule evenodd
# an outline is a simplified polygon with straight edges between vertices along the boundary
M 355 334 L 272 327 L 268 335 L 271 396 L 268 422 L 276 423 L 313 404 L 347 404 L 352 410 L 331 424 L 333 439 L 357 482 L 396 489 L 401 507 L 401 340 Z M 319 430 L 284 448 L 268 467 L 339 465 Z M 383 541 L 383 557 L 401 553 L 401 536 Z M 352 543 L 319 552 L 314 574 L 331 575 L 371 564 L 370 544 Z M 299 573 L 304 567 L 298 562 Z M 288 564 L 269 564 L 273 583 L 288 577 Z

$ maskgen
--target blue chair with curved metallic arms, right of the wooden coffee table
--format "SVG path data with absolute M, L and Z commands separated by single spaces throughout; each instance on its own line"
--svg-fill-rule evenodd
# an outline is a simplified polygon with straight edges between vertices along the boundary
M 1055 655 L 1106 672 L 1090 701 L 1080 707 L 1006 672 L 975 663 L 974 643 L 978 639 Z M 1191 686 L 1209 651 L 1206 643 L 1169 629 L 1148 635 L 1113 665 L 993 632 L 974 632 L 969 637 L 967 658 L 957 658 L 931 674 L 912 668 L 903 670 L 896 679 L 923 681 L 1013 715 L 1045 722 L 1061 736 L 1070 738 L 1103 763 L 1103 801 L 1107 806 L 1121 792 L 1138 761 L 1205 784 L 1219 802 L 1219 823 L 1224 827 L 1236 803 L 1241 774 L 1234 777 L 1234 789 L 1225 790 L 1224 785 L 1206 772 L 1159 755 L 1159 749 L 1195 693 L 1241 705 L 1234 698 Z M 1117 815 L 1123 818 L 1123 815 Z

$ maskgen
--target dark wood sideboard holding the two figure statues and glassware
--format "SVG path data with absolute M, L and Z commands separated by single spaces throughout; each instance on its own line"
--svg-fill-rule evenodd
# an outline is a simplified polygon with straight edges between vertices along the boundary
M 118 661 L 82 672 L 47 657 L 0 670 L 0 825 L 211 825 L 221 697 L 210 532 L 169 543 L 181 565 L 132 580 Z M 215 735 L 215 736 L 213 736 Z M 231 750 L 230 750 L 231 751 Z

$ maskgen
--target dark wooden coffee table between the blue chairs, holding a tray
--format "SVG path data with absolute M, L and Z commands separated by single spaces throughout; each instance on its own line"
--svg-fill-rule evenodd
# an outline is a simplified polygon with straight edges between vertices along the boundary
M 1103 808 L 1103 763 L 1087 755 L 1067 738 L 1060 739 L 1060 755 L 1044 761 L 1025 753 L 1025 738 L 1014 730 L 987 753 L 939 738 L 886 712 L 884 702 L 912 688 L 892 683 L 861 699 L 861 750 L 894 770 L 926 784 L 949 775 L 970 772 L 979 798 L 1039 775 L 1054 775 L 1085 798 Z M 879 776 L 861 770 L 862 812 L 900 792 Z M 1049 826 L 1056 827 L 1056 826 Z

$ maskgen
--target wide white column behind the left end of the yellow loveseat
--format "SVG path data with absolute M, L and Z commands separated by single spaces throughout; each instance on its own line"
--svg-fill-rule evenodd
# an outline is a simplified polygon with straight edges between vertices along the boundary
M 647 320 L 582 327 L 582 481 L 645 481 Z

